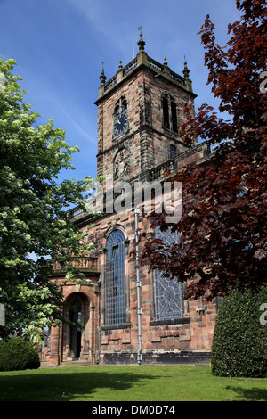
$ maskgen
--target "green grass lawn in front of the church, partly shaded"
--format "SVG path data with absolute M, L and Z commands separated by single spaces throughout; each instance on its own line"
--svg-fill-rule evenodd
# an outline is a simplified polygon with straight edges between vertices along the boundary
M 266 401 L 267 379 L 204 366 L 73 366 L 0 373 L 0 401 Z

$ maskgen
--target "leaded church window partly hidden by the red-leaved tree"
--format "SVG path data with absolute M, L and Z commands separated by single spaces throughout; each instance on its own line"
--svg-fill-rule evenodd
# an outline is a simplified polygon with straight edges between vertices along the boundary
M 178 243 L 178 234 L 174 234 L 170 230 L 161 232 L 159 229 L 157 229 L 155 230 L 155 233 L 157 233 L 158 238 L 166 244 Z M 154 284 L 156 320 L 171 320 L 174 318 L 182 318 L 182 283 L 178 283 L 175 278 L 165 278 L 163 272 L 155 270 Z

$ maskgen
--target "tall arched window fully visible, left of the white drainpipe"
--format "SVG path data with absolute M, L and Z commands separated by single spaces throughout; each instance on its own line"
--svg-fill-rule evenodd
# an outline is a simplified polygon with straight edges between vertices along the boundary
M 107 241 L 105 324 L 125 323 L 125 235 L 113 231 Z

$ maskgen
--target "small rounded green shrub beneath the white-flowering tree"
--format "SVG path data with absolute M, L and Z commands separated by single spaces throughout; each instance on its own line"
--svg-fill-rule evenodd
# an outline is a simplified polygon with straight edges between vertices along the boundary
M 0 341 L 0 371 L 36 369 L 40 360 L 32 343 L 20 338 Z

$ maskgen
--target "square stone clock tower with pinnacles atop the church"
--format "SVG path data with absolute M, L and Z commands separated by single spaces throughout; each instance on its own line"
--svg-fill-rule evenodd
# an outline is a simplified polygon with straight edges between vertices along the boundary
M 98 106 L 97 176 L 128 180 L 139 177 L 176 154 L 188 150 L 180 135 L 183 108 L 194 98 L 189 70 L 183 76 L 144 51 L 140 33 L 139 53 L 106 81 L 101 70 Z

